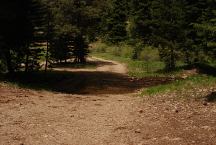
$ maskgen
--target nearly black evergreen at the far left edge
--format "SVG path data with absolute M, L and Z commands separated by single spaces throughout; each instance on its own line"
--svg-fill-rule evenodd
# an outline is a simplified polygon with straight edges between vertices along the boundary
M 7 70 L 19 70 L 34 38 L 38 2 L 34 0 L 1 1 L 1 52 Z M 35 21 L 34 21 L 35 19 Z

